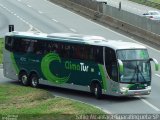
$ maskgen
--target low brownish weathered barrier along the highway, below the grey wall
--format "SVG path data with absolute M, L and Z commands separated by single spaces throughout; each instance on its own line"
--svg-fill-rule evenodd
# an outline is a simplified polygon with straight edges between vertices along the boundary
M 80 14 L 83 14 L 87 17 L 90 17 L 91 19 L 97 20 L 104 24 L 109 24 L 113 27 L 116 27 L 118 29 L 121 29 L 123 31 L 126 31 L 128 33 L 131 33 L 133 35 L 139 36 L 141 38 L 144 38 L 147 42 L 158 44 L 160 45 L 160 35 L 146 31 L 142 28 L 136 27 L 132 24 L 129 24 L 127 22 L 124 22 L 122 20 L 118 20 L 117 18 L 113 18 L 109 15 L 104 15 L 99 11 L 99 8 L 103 6 L 103 4 L 98 4 L 98 9 L 93 10 L 89 7 L 84 7 L 82 5 L 79 5 L 77 3 L 74 3 L 73 0 L 50 0 L 51 2 L 63 5 L 65 7 L 68 7 L 70 9 L 73 9 L 74 11 L 79 12 Z M 85 0 L 87 1 L 87 0 Z M 95 3 L 93 3 L 95 5 Z M 90 4 L 92 6 L 92 4 Z

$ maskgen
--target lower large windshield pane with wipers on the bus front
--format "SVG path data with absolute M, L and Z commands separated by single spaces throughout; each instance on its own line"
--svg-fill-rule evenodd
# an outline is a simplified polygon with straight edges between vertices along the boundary
M 124 72 L 120 81 L 126 83 L 144 83 L 151 80 L 150 63 L 142 61 L 123 61 Z

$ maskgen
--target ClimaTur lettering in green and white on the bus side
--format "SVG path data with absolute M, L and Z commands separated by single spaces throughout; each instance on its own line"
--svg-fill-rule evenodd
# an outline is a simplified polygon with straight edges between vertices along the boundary
M 84 63 L 75 64 L 72 63 L 71 61 L 66 61 L 65 68 L 67 70 L 88 72 L 89 66 L 85 65 Z

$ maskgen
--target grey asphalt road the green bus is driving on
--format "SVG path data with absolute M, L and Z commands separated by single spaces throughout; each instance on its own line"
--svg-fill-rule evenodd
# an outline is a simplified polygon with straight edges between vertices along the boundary
M 128 37 L 109 27 L 103 27 L 91 20 L 83 18 L 46 0 L 0 0 L 0 15 L 4 24 L 0 32 L 6 32 L 8 24 L 15 24 L 17 31 L 37 29 L 46 33 L 74 32 L 81 34 L 101 35 L 107 39 L 136 42 L 136 38 Z M 6 20 L 5 20 L 6 19 Z M 1 19 L 0 19 L 1 20 Z M 9 22 L 7 22 L 9 21 Z M 1 25 L 1 24 L 0 24 Z M 147 46 L 147 45 L 146 45 Z M 151 57 L 160 61 L 160 51 L 147 46 Z M 3 77 L 0 70 L 0 82 L 11 81 Z M 119 98 L 104 96 L 96 100 L 89 93 L 46 87 L 53 94 L 80 100 L 111 113 L 160 113 L 160 73 L 153 71 L 152 93 L 144 97 Z

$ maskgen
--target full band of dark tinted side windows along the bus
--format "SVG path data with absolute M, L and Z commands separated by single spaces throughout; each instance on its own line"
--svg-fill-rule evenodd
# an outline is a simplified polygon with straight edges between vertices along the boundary
M 6 38 L 6 49 L 37 55 L 54 52 L 63 58 L 91 60 L 103 64 L 103 47 L 98 46 L 8 37 Z

